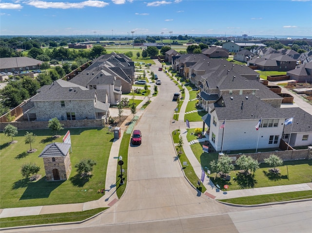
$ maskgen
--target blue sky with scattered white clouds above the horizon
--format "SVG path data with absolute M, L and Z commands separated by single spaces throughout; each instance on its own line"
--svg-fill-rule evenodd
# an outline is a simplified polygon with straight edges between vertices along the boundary
M 312 36 L 312 1 L 0 0 L 0 35 L 132 36 L 131 31 Z

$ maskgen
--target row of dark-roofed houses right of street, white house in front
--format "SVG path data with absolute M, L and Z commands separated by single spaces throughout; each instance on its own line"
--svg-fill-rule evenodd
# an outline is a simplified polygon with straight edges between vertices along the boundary
M 300 108 L 281 108 L 282 97 L 263 85 L 251 68 L 203 54 L 176 56 L 172 63 L 173 70 L 199 89 L 199 106 L 208 111 L 202 117 L 203 128 L 208 126 L 215 151 L 274 149 L 289 138 L 291 146 L 312 144 L 312 115 Z M 297 127 L 290 132 L 284 122 L 291 117 Z

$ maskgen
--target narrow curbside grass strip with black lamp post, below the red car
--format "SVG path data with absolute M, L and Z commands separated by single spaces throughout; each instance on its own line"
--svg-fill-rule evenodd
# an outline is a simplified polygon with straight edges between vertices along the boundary
M 125 191 L 126 185 L 127 185 L 127 169 L 128 169 L 128 148 L 130 143 L 131 134 L 128 134 L 124 132 L 122 136 L 122 140 L 119 147 L 119 155 L 122 156 L 122 169 L 124 169 L 124 172 L 122 172 L 122 178 L 124 179 L 124 184 L 119 185 L 120 183 L 120 166 L 117 164 L 117 173 L 116 173 L 116 188 L 117 188 L 117 197 L 120 198 Z M 119 155 L 116 155 L 116 157 Z

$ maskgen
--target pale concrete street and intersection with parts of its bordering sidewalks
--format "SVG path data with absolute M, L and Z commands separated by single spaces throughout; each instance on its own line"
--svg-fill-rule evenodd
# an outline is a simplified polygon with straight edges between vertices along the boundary
M 23 233 L 193 233 L 199 231 L 220 233 L 306 233 L 312 229 L 312 201 L 296 203 L 270 204 L 255 207 L 236 207 L 217 202 L 213 197 L 198 193 L 185 178 L 180 162 L 176 159 L 176 150 L 171 138 L 171 132 L 178 128 L 181 133 L 186 125 L 179 117 L 172 119 L 176 102 L 172 101 L 173 93 L 178 91 L 175 84 L 164 72 L 158 72 L 160 66 L 151 70 L 156 72 L 162 81 L 159 94 L 153 98 L 151 104 L 143 111 L 138 110 L 139 119 L 135 129 L 142 132 L 142 144 L 129 144 L 128 180 L 123 196 L 118 200 L 114 194 L 116 187 L 116 160 L 109 160 L 110 174 L 106 178 L 105 189 L 111 190 L 99 200 L 89 204 L 81 203 L 73 206 L 78 209 L 91 209 L 96 206 L 111 206 L 105 212 L 81 223 L 51 224 L 25 228 L 1 230 L 1 232 Z M 188 97 L 185 98 L 185 102 Z M 183 108 L 185 109 L 185 105 Z M 181 114 L 182 115 L 182 114 Z M 191 127 L 202 127 L 202 123 L 192 123 Z M 122 126 L 122 130 L 125 130 Z M 118 143 L 114 141 L 111 155 L 117 156 Z M 187 144 L 187 141 L 184 140 Z M 187 150 L 187 145 L 183 148 Z M 189 152 L 185 152 L 190 154 Z M 194 156 L 194 155 L 193 155 Z M 198 176 L 201 172 L 199 162 L 190 162 Z M 115 162 L 115 163 L 114 163 Z M 194 165 L 193 165 L 194 164 Z M 199 165 L 198 165 L 199 164 Z M 199 170 L 200 169 L 200 170 Z M 115 178 L 114 178 L 115 174 Z M 224 196 L 209 184 L 204 183 L 208 194 L 215 197 Z M 304 190 L 311 190 L 311 186 L 304 184 Z M 258 190 L 249 195 L 262 192 L 280 192 L 283 188 Z M 285 189 L 285 188 L 284 188 Z M 230 193 L 230 191 L 229 191 Z M 238 196 L 244 191 L 237 191 Z M 256 194 L 255 194 L 256 193 Z M 233 194 L 235 196 L 235 194 Z M 88 205 L 88 207 L 87 207 Z M 65 208 L 65 207 L 64 207 Z M 51 208 L 52 209 L 52 208 Z M 66 208 L 70 209 L 69 206 Z M 31 209 L 30 209 L 31 210 Z M 5 210 L 1 211 L 1 217 Z

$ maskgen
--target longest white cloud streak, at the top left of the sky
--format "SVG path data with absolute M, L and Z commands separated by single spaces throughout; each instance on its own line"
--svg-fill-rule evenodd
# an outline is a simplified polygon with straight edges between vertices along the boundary
M 105 7 L 108 3 L 99 0 L 87 0 L 81 2 L 48 2 L 48 1 L 29 1 L 28 5 L 37 7 L 37 8 L 60 8 L 60 9 L 69 9 L 69 8 L 84 8 L 84 7 Z

